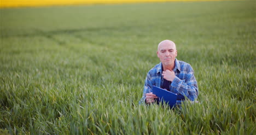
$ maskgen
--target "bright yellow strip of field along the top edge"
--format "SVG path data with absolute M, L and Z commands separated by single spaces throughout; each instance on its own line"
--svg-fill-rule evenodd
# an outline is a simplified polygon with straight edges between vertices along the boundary
M 112 4 L 112 3 L 139 3 L 139 2 L 167 2 L 167 1 L 214 1 L 214 0 L 0 0 L 0 8 L 34 7 L 46 5 L 71 4 Z M 218 1 L 218 0 L 215 0 Z

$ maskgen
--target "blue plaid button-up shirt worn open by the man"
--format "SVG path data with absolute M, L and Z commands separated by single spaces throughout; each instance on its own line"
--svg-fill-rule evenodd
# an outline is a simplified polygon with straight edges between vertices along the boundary
M 176 77 L 170 84 L 170 91 L 177 93 L 177 95 L 183 95 L 190 99 L 190 101 L 195 101 L 198 95 L 198 88 L 194 77 L 194 71 L 190 64 L 175 59 L 175 67 L 173 71 Z M 153 86 L 162 87 L 163 83 L 162 63 L 160 62 L 148 72 L 144 84 L 143 96 L 139 101 L 139 104 L 146 103 L 146 93 L 152 92 Z M 181 102 L 182 101 L 177 100 L 177 104 L 181 104 Z

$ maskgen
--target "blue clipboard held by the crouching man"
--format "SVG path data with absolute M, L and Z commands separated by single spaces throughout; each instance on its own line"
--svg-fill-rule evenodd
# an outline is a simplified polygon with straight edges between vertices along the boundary
M 166 102 L 172 108 L 177 102 L 177 94 L 170 91 L 161 89 L 160 87 L 153 86 L 153 94 L 158 96 L 158 102 Z

